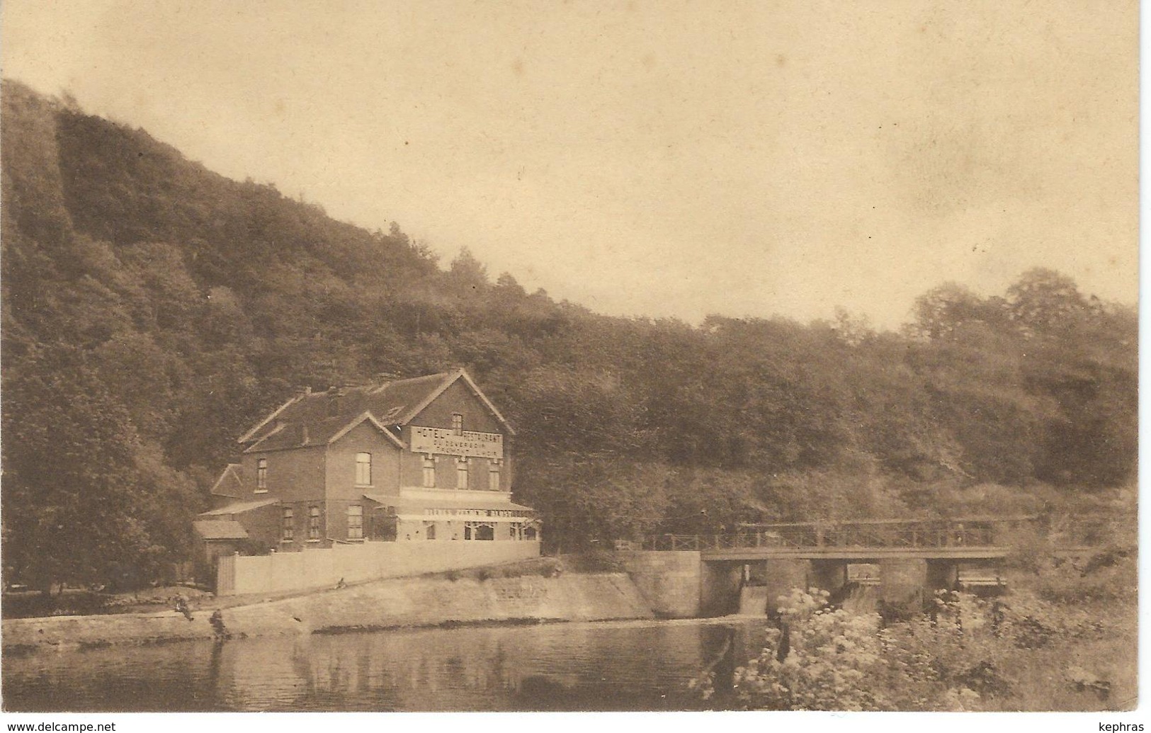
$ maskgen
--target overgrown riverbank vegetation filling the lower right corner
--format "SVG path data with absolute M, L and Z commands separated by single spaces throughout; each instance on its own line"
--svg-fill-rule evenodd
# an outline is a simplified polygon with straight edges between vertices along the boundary
M 939 590 L 923 613 L 881 616 L 868 588 L 838 608 L 824 590 L 794 589 L 755 658 L 738 659 L 723 684 L 709 669 L 692 686 L 711 705 L 760 710 L 1130 708 L 1134 504 L 1100 507 L 1110 540 L 1099 551 L 1060 559 L 1049 547 L 1015 564 L 1003 596 Z

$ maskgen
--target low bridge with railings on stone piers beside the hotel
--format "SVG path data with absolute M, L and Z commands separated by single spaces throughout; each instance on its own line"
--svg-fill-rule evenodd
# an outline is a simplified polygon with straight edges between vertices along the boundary
M 744 525 L 712 535 L 666 534 L 617 543 L 633 580 L 668 616 L 731 613 L 756 589 L 760 606 L 792 588 L 834 593 L 848 566 L 878 565 L 882 598 L 921 605 L 931 590 L 954 588 L 960 570 L 999 582 L 1009 533 L 1035 517 L 866 519 Z M 666 603 L 663 603 L 663 602 Z M 661 606 L 663 603 L 663 608 Z

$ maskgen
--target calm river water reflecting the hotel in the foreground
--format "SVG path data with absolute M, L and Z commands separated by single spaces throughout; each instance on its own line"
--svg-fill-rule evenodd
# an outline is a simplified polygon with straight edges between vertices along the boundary
M 692 710 L 687 681 L 722 656 L 722 686 L 763 632 L 732 617 L 38 652 L 3 659 L 2 695 L 9 711 Z

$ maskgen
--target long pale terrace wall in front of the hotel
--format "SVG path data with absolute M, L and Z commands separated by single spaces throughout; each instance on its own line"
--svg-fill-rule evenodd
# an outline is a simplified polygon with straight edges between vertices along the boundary
M 230 555 L 216 567 L 216 594 L 279 593 L 478 567 L 540 556 L 539 542 L 365 542 L 257 557 Z

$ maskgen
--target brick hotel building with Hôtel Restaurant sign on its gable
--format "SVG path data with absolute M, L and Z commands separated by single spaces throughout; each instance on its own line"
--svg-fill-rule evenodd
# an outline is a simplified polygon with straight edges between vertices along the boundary
M 273 502 L 213 516 L 235 519 L 253 543 L 276 551 L 539 541 L 532 510 L 511 502 L 512 436 L 463 371 L 305 391 L 239 438 L 239 463 L 214 488 L 216 512 Z

